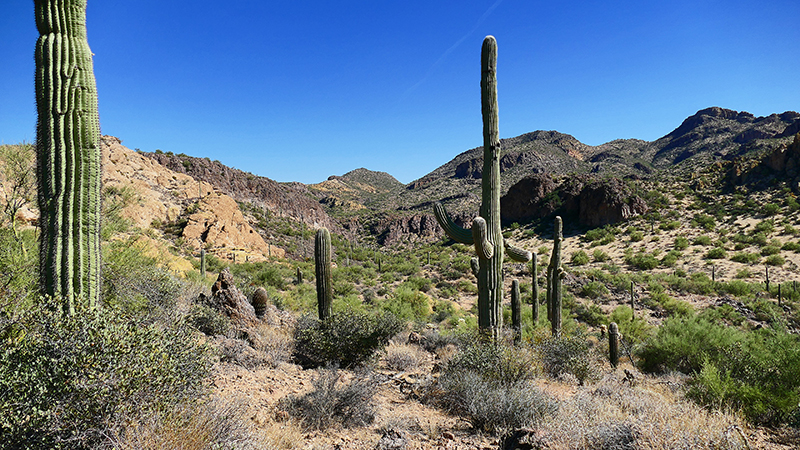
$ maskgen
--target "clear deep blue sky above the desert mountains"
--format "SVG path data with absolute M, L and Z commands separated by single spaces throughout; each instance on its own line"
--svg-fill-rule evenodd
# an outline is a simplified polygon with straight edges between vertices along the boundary
M 800 110 L 800 2 L 89 0 L 104 134 L 314 183 L 402 182 L 482 145 L 480 46 L 500 135 L 657 139 L 697 110 Z M 35 137 L 30 0 L 0 6 L 0 141 Z

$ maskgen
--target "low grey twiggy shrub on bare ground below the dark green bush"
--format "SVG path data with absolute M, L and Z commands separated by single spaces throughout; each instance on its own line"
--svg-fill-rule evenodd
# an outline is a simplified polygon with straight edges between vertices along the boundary
M 376 391 L 377 382 L 364 373 L 342 386 L 339 370 L 330 366 L 319 370 L 310 392 L 290 395 L 279 402 L 278 408 L 318 430 L 335 424 L 363 426 L 375 420 Z

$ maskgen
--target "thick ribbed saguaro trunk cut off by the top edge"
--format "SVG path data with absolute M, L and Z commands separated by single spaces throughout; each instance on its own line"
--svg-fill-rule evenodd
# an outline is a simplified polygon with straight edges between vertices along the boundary
M 86 0 L 35 0 L 36 151 L 42 292 L 100 298 L 100 121 Z

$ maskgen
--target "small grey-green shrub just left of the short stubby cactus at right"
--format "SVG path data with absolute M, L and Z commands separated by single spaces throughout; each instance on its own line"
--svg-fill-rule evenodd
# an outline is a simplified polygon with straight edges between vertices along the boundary
M 574 333 L 564 332 L 542 340 L 538 344 L 538 351 L 545 373 L 553 378 L 571 374 L 583 385 L 597 376 L 597 357 L 592 354 L 592 347 L 582 328 Z

